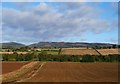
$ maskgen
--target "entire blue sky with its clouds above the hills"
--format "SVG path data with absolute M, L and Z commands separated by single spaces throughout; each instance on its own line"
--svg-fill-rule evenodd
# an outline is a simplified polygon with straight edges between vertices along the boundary
M 118 43 L 117 2 L 3 2 L 2 42 Z

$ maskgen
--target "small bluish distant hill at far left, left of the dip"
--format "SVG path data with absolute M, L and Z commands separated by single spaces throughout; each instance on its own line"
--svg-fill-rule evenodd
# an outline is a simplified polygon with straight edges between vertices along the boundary
M 16 42 L 8 42 L 8 43 L 0 43 L 0 46 L 2 46 L 2 48 L 20 48 L 20 47 L 24 47 L 25 45 Z

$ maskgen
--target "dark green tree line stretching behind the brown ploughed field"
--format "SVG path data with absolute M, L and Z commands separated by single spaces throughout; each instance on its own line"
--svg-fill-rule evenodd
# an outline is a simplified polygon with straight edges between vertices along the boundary
M 52 55 L 46 52 L 3 54 L 2 61 L 120 62 L 120 55 Z

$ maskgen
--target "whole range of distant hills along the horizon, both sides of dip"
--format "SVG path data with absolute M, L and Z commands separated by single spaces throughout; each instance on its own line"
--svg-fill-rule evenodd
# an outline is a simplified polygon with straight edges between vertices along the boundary
M 44 48 L 44 47 L 56 47 L 56 48 L 72 48 L 72 47 L 111 47 L 114 44 L 109 43 L 85 43 L 85 42 L 38 42 L 31 45 L 28 45 L 29 47 L 38 47 L 38 48 Z M 8 42 L 8 43 L 0 43 L 0 46 L 2 48 L 20 48 L 25 47 L 26 45 L 16 42 Z

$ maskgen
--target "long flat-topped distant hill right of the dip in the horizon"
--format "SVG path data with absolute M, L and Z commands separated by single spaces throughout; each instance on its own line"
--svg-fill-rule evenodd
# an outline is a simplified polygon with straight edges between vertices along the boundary
M 108 43 L 84 43 L 84 42 L 39 42 L 29 45 L 29 47 L 109 47 Z

